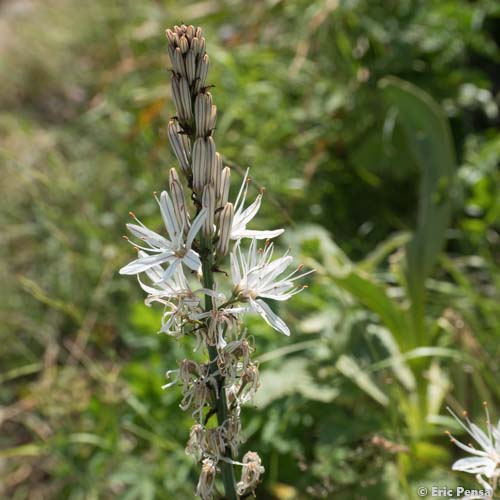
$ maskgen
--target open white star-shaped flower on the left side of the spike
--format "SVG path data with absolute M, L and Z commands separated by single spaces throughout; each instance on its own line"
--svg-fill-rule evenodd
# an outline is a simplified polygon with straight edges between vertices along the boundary
M 139 274 L 159 264 L 168 263 L 168 268 L 164 271 L 160 281 L 168 281 L 177 267 L 183 263 L 193 271 L 201 268 L 200 256 L 191 245 L 198 234 L 206 217 L 206 211 L 201 210 L 193 221 L 184 241 L 184 224 L 180 224 L 175 215 L 172 200 L 166 191 L 161 193 L 160 200 L 161 216 L 170 239 L 167 239 L 154 231 L 148 229 L 138 219 L 137 224 L 127 224 L 128 230 L 136 237 L 143 240 L 148 247 L 143 247 L 131 242 L 135 247 L 144 250 L 146 255 L 140 255 L 138 259 L 130 262 L 120 269 L 120 274 Z M 153 255 L 149 255 L 149 252 Z

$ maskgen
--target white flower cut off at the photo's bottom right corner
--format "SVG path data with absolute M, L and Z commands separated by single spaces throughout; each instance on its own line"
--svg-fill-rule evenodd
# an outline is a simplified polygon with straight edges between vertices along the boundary
M 476 424 L 472 423 L 466 414 L 464 414 L 464 416 L 467 425 L 464 424 L 463 421 L 448 408 L 448 411 L 455 417 L 458 423 L 467 431 L 474 441 L 476 441 L 479 448 L 475 448 L 472 445 L 465 445 L 455 439 L 450 433 L 448 433 L 448 435 L 451 441 L 459 448 L 474 455 L 473 457 L 457 460 L 452 466 L 453 470 L 493 478 L 500 475 L 500 470 L 497 470 L 500 465 L 500 420 L 496 427 L 492 426 L 486 405 L 485 409 L 487 433 L 482 431 Z

